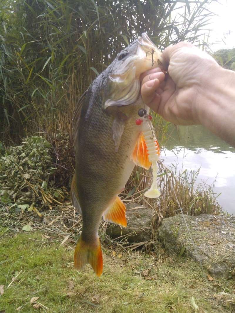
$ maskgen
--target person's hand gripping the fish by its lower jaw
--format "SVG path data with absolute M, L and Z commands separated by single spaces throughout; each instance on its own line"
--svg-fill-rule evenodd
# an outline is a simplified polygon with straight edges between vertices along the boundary
M 213 92 L 213 80 L 221 67 L 205 52 L 186 42 L 170 46 L 162 53 L 168 66 L 141 75 L 144 103 L 165 120 L 178 125 L 201 124 L 205 93 Z

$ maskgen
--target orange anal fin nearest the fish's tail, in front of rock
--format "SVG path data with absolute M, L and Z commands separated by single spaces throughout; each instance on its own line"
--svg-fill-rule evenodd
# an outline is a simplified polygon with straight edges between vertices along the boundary
M 126 207 L 118 196 L 115 197 L 114 201 L 104 212 L 103 219 L 106 222 L 111 222 L 119 224 L 123 227 L 127 227 Z

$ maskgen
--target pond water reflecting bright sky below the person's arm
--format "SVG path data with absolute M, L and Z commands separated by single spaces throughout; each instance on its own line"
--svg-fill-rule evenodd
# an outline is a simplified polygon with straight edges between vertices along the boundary
M 216 180 L 218 203 L 235 215 L 235 149 L 199 125 L 171 125 L 169 135 L 161 153 L 165 166 L 177 163 L 177 171 L 201 167 L 196 183 L 211 185 Z

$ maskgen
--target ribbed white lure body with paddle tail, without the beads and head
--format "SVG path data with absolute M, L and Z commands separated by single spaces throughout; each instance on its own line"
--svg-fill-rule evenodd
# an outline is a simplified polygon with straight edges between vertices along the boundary
M 153 181 L 150 189 L 144 193 L 145 197 L 148 198 L 158 198 L 160 196 L 160 192 L 157 186 L 157 173 L 158 166 L 157 162 L 159 160 L 159 147 L 157 145 L 157 140 L 154 132 L 153 125 L 149 120 L 149 116 L 145 115 L 143 118 L 143 122 L 141 124 L 142 133 L 144 136 L 144 140 L 147 146 L 149 161 L 152 162 L 153 168 Z

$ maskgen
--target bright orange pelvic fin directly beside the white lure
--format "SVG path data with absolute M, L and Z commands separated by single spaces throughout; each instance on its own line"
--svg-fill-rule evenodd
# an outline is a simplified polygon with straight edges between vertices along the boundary
M 148 150 L 147 150 L 147 145 L 146 145 L 144 135 L 142 132 L 139 134 L 135 148 L 134 148 L 132 155 L 131 155 L 131 160 L 136 165 L 144 167 L 146 170 L 148 170 L 152 164 L 149 161 L 149 154 L 148 154 Z

